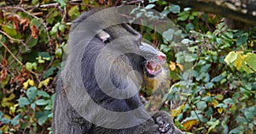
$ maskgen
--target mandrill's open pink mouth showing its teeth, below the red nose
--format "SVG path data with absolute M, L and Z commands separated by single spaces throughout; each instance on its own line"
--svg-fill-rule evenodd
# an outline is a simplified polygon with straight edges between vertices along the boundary
M 146 64 L 146 69 L 150 75 L 158 75 L 162 70 L 160 64 L 154 61 L 148 61 Z

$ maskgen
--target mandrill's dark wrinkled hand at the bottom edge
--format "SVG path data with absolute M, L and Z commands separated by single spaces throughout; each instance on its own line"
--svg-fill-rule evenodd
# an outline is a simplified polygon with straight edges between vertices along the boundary
M 173 124 L 173 120 L 170 114 L 165 111 L 158 111 L 153 116 L 155 123 L 159 126 L 158 131 L 165 134 L 183 134 L 183 131 L 177 129 Z

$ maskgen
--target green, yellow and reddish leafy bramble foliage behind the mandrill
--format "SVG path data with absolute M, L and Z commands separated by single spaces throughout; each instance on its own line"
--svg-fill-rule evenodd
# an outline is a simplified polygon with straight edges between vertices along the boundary
M 20 4 L 0 2 L 0 133 L 50 133 L 55 82 L 70 22 L 104 1 Z M 230 30 L 217 15 L 166 1 L 144 4 L 143 10 L 134 10 L 137 19 L 168 17 L 181 29 L 166 29 L 161 36 L 146 26 L 136 27 L 167 55 L 172 87 L 161 109 L 172 113 L 183 131 L 256 131 L 256 30 Z M 160 14 L 150 14 L 151 8 Z M 178 45 L 186 49 L 173 47 L 177 35 L 183 36 Z

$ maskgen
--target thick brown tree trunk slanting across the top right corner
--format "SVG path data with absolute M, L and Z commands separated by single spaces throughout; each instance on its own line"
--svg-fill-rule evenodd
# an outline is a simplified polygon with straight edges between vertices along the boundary
M 230 28 L 246 29 L 256 26 L 256 0 L 166 0 L 166 2 L 224 16 Z

